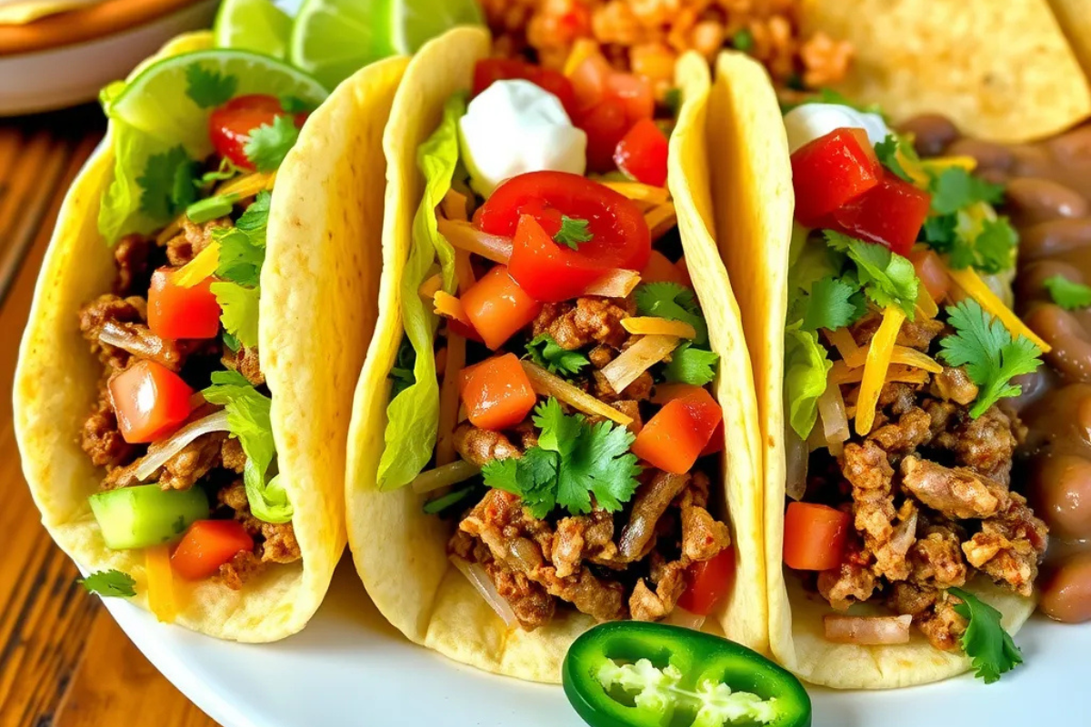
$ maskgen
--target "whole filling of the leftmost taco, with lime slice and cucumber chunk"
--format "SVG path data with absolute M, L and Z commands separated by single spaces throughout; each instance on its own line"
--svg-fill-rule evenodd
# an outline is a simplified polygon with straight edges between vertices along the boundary
M 127 123 L 124 85 L 104 93 L 116 162 L 99 231 L 117 275 L 79 313 L 103 366 L 81 445 L 105 471 L 91 497 L 103 538 L 146 552 L 149 603 L 167 618 L 170 599 L 153 591 L 169 593 L 173 575 L 239 590 L 301 557 L 277 483 L 257 316 L 269 191 L 324 92 L 264 58 L 255 77 L 225 65 L 245 56 L 170 59 L 196 111 L 155 134 Z M 156 81 L 131 83 L 148 93 Z M 170 128 L 185 122 L 195 128 Z

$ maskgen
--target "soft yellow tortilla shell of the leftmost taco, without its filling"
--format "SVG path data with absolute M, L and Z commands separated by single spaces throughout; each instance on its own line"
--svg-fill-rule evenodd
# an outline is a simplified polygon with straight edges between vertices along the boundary
M 182 36 L 148 62 L 211 46 L 207 33 Z M 176 579 L 177 623 L 194 631 L 248 642 L 299 631 L 322 602 L 344 550 L 350 419 L 344 392 L 362 365 L 377 317 L 381 138 L 405 64 L 384 61 L 341 84 L 308 120 L 277 174 L 262 269 L 260 349 L 302 561 L 273 566 L 239 592 Z M 109 291 L 115 276 L 112 251 L 96 227 L 112 167 L 107 137 L 61 208 L 20 350 L 15 433 L 26 481 L 53 540 L 88 570 L 132 574 L 133 601 L 146 608 L 143 556 L 103 543 L 87 504 L 103 470 L 79 444 L 101 365 L 76 329 L 76 312 Z

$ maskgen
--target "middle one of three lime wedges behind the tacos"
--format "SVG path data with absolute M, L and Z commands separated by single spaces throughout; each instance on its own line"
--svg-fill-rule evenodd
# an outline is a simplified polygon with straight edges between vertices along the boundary
M 389 0 L 304 0 L 291 26 L 288 58 L 333 88 L 358 70 L 394 56 Z

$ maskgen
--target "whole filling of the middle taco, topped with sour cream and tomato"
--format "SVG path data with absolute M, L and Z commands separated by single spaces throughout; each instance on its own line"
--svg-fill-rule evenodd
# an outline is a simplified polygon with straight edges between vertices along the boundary
M 419 149 L 377 482 L 432 493 L 448 557 L 508 626 L 698 625 L 734 561 L 710 513 L 718 355 L 666 189 L 673 119 L 597 53 L 571 78 L 479 61 Z

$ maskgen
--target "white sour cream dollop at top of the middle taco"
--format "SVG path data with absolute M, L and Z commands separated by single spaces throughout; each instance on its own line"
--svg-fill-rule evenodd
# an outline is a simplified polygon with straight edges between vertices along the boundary
M 517 174 L 587 169 L 587 134 L 556 96 L 529 81 L 493 83 L 470 101 L 458 130 L 470 186 L 487 197 Z

